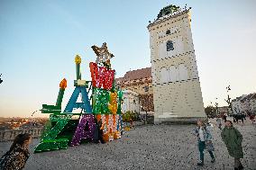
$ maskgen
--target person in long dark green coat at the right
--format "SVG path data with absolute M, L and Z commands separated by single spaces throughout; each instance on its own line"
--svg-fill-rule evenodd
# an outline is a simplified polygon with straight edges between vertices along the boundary
M 240 159 L 243 157 L 242 134 L 239 130 L 233 127 L 232 121 L 225 121 L 225 127 L 224 130 L 222 130 L 221 136 L 229 155 L 234 158 L 234 169 L 243 169 L 240 161 Z

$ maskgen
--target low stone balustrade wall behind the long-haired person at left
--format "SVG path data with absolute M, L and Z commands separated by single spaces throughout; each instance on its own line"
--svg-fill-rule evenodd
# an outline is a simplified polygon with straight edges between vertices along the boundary
M 20 133 L 30 133 L 32 138 L 41 137 L 42 128 L 23 129 L 23 130 L 0 130 L 0 141 L 14 140 Z

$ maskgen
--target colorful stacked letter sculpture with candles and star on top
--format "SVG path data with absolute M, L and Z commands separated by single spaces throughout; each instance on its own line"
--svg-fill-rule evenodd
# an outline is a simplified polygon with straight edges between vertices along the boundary
M 41 142 L 35 152 L 78 146 L 82 139 L 94 140 L 96 132 L 95 120 L 101 120 L 104 125 L 103 138 L 105 141 L 121 138 L 123 121 L 121 115 L 122 91 L 114 87 L 115 71 L 111 69 L 110 58 L 114 55 L 108 52 L 106 43 L 102 48 L 92 47 L 96 52 L 96 63 L 89 64 L 92 81 L 81 80 L 81 58 L 75 58 L 77 79 L 74 80 L 74 92 L 69 98 L 69 103 L 61 112 L 61 103 L 67 87 L 64 78 L 59 84 L 59 94 L 55 105 L 42 104 L 42 113 L 50 113 L 50 126 L 42 135 Z M 91 83 L 92 88 L 88 88 Z M 92 92 L 92 102 L 88 94 Z M 81 103 L 77 103 L 81 94 Z M 73 113 L 80 109 L 80 113 Z M 74 120 L 72 116 L 78 115 Z M 96 138 L 97 139 L 97 138 Z

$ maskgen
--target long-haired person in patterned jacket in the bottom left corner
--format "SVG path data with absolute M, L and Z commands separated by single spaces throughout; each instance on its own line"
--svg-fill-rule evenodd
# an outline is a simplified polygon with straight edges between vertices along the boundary
M 29 145 L 32 141 L 32 135 L 29 133 L 19 134 L 14 142 L 0 159 L 0 169 L 21 170 L 30 157 Z

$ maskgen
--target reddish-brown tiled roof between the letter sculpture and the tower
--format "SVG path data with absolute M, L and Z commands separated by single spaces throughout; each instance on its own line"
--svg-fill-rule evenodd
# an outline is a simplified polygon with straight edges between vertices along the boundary
M 150 78 L 150 77 L 152 77 L 151 67 L 145 67 L 142 69 L 127 71 L 123 77 L 115 78 L 115 82 L 132 81 L 132 80 Z

